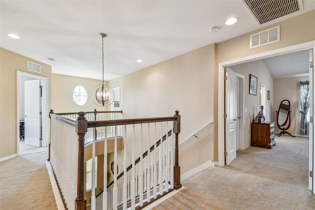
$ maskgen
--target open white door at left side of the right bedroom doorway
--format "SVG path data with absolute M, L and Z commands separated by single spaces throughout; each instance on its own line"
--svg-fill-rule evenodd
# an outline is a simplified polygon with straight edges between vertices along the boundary
M 225 164 L 236 158 L 236 74 L 229 68 L 225 70 Z

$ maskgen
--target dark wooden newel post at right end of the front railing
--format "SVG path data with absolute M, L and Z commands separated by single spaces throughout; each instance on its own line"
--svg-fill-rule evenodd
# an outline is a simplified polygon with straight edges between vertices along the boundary
M 178 134 L 181 133 L 181 115 L 179 111 L 175 111 L 174 117 L 177 117 L 177 120 L 174 121 L 173 131 L 175 133 L 175 164 L 174 164 L 174 187 L 179 189 L 182 187 L 181 184 L 181 167 L 178 163 Z

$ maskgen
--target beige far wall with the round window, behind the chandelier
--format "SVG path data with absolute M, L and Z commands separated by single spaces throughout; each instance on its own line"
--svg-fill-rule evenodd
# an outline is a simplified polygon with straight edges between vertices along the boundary
M 87 79 L 76 76 L 66 76 L 61 74 L 52 74 L 52 108 L 55 113 L 61 112 L 79 112 L 79 111 L 105 111 L 107 107 L 101 107 L 92 101 L 92 91 L 102 84 L 101 80 Z M 107 82 L 104 82 L 105 85 Z M 73 100 L 73 90 L 76 86 L 82 85 L 88 92 L 88 101 L 84 105 L 77 105 Z

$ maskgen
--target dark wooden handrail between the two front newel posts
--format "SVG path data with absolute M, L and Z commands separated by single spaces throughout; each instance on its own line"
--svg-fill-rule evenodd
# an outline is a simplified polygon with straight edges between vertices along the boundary
M 152 122 L 165 122 L 165 121 L 176 121 L 176 120 L 177 120 L 177 117 L 152 117 L 152 118 L 138 118 L 138 119 L 89 121 L 88 128 L 114 126 L 114 125 L 152 123 Z

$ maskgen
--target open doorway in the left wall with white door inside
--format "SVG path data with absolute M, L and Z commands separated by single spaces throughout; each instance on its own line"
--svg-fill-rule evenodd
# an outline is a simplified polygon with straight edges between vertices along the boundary
M 36 88 L 36 94 L 33 93 L 34 89 L 32 88 L 32 83 L 39 86 L 38 89 Z M 27 86 L 31 87 L 31 89 L 25 94 L 25 87 Z M 28 93 L 33 96 L 30 96 Z M 28 95 L 27 100 L 26 95 Z M 28 114 L 25 113 L 26 103 L 28 103 L 28 106 L 30 107 L 29 110 L 33 112 L 32 116 L 37 116 L 37 123 L 34 123 L 33 117 L 26 119 L 29 117 Z M 34 103 L 38 103 L 36 109 L 33 107 Z M 17 71 L 17 155 L 20 155 L 21 150 L 47 145 L 47 117 L 47 78 Z

